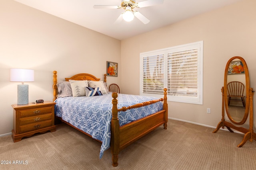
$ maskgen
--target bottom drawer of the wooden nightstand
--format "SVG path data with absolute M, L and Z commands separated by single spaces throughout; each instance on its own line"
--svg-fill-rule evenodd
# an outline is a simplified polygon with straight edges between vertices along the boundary
M 27 131 L 34 131 L 34 130 L 41 129 L 43 127 L 48 127 L 48 126 L 52 126 L 52 120 L 46 120 L 46 121 L 41 121 L 37 123 L 31 123 L 28 125 L 23 125 L 19 127 L 19 130 L 20 130 L 20 133 L 24 133 Z

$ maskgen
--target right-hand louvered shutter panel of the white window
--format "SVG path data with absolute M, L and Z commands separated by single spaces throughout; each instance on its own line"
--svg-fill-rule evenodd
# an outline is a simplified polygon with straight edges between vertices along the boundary
M 197 97 L 198 49 L 168 54 L 168 94 Z

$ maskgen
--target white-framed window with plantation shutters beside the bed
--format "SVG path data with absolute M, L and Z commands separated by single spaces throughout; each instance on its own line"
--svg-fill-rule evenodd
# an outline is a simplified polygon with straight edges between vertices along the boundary
M 203 41 L 140 53 L 140 95 L 202 104 Z

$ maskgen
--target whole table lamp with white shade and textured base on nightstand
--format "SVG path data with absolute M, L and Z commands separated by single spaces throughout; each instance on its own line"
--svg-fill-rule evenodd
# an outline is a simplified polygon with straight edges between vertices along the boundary
M 24 82 L 34 82 L 34 70 L 10 69 L 10 82 L 22 82 L 18 84 L 18 105 L 28 104 L 28 84 Z

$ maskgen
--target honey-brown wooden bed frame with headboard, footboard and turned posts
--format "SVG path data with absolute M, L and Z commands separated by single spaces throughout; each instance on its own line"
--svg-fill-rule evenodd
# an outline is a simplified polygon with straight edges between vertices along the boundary
M 100 78 L 96 78 L 92 74 L 87 74 L 87 73 L 76 74 L 70 78 L 65 78 L 65 79 L 66 81 L 68 80 L 100 81 Z M 106 82 L 106 74 L 104 74 L 104 82 Z M 56 96 L 57 96 L 58 89 L 56 84 L 57 84 L 57 71 L 53 71 L 53 96 L 54 96 L 53 101 L 55 101 L 57 98 Z M 140 139 L 141 137 L 143 137 L 150 131 L 153 131 L 154 129 L 156 129 L 162 124 L 164 125 L 164 129 L 167 129 L 168 104 L 167 104 L 166 91 L 167 89 L 164 88 L 164 98 L 135 104 L 129 107 L 122 107 L 120 109 L 117 108 L 118 100 L 116 98 L 118 97 L 118 94 L 117 93 L 112 94 L 113 107 L 112 107 L 112 120 L 111 120 L 111 139 L 110 139 L 110 149 L 112 153 L 112 166 L 118 166 L 118 154 L 122 149 L 126 148 L 127 146 L 134 143 L 136 140 Z M 161 111 L 158 111 L 152 115 L 148 115 L 147 117 L 138 119 L 126 125 L 119 126 L 118 111 L 126 111 L 127 109 L 147 106 L 159 101 L 164 101 L 163 109 Z M 56 117 L 56 118 L 60 119 L 62 122 L 65 122 L 60 117 Z M 67 124 L 71 125 L 70 123 L 67 123 Z M 73 125 L 71 126 L 74 127 Z M 78 130 L 81 131 L 80 129 Z M 85 134 L 91 137 L 91 135 L 87 133 Z

